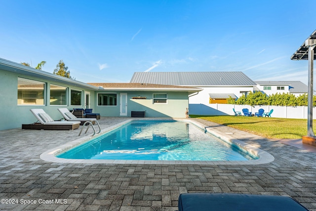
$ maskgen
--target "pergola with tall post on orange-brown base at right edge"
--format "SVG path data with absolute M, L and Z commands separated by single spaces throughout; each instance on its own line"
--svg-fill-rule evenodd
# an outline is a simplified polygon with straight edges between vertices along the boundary
M 307 136 L 303 136 L 303 143 L 315 145 L 316 137 L 313 131 L 313 70 L 316 53 L 314 48 L 316 46 L 316 30 L 305 42 L 297 49 L 291 56 L 292 60 L 308 60 L 308 116 L 307 116 Z

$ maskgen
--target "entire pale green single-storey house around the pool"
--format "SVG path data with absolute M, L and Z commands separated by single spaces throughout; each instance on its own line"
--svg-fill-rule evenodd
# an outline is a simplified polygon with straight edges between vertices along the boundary
M 196 87 L 151 84 L 91 85 L 0 58 L 0 130 L 37 122 L 30 109 L 41 108 L 54 120 L 58 108 L 92 108 L 101 116 L 185 118 Z

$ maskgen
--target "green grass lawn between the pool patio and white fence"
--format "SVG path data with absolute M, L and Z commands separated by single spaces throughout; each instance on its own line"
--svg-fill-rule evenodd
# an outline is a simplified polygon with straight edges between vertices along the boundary
M 234 127 L 252 134 L 266 138 L 302 138 L 307 135 L 307 120 L 282 119 L 269 117 L 244 117 L 244 116 L 198 116 L 200 118 L 225 126 Z M 313 127 L 316 124 L 313 122 Z

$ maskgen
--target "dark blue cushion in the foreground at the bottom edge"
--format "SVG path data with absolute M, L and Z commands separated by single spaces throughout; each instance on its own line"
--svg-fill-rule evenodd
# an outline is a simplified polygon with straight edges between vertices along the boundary
M 287 196 L 230 193 L 180 194 L 179 211 L 308 211 Z

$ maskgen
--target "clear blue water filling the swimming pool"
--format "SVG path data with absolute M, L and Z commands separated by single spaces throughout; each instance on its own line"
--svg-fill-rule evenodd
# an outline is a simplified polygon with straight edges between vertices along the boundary
M 67 159 L 246 161 L 256 159 L 187 122 L 132 121 L 57 156 Z

